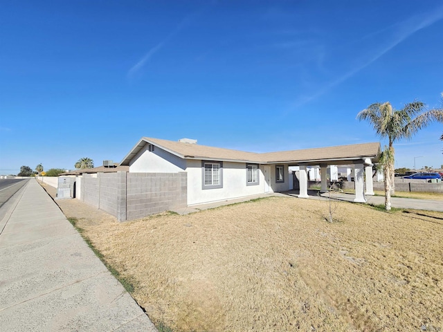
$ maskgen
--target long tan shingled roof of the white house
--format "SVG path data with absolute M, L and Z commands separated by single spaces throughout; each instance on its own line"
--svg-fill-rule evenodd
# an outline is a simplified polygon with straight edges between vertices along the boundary
M 129 165 L 131 160 L 148 144 L 159 147 L 183 159 L 260 164 L 288 163 L 291 165 L 320 165 L 326 163 L 329 165 L 344 165 L 352 163 L 353 160 L 356 161 L 365 158 L 377 160 L 380 154 L 379 142 L 257 154 L 255 152 L 143 137 L 132 148 L 129 154 L 125 156 L 120 165 Z

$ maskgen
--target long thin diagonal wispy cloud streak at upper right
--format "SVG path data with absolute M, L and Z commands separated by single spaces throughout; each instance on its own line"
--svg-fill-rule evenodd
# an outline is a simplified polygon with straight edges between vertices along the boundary
M 359 71 L 363 70 L 363 68 L 376 62 L 380 57 L 392 50 L 392 48 L 395 48 L 395 46 L 397 46 L 401 42 L 404 42 L 404 40 L 408 39 L 408 37 L 417 33 L 417 31 L 431 26 L 441 19 L 443 19 L 443 6 L 440 6 L 440 8 L 437 8 L 436 10 L 433 10 L 433 12 L 427 12 L 424 15 L 415 15 L 414 17 L 410 17 L 409 19 L 406 19 L 399 24 L 393 24 L 388 28 L 378 30 L 377 33 L 370 34 L 372 35 L 372 37 L 377 37 L 378 35 L 383 33 L 384 35 L 390 35 L 390 38 L 388 39 L 388 42 L 384 43 L 383 47 L 374 50 L 374 52 L 369 56 L 363 55 L 359 62 L 357 62 L 353 68 L 350 68 L 350 70 L 348 70 L 343 75 L 337 77 L 335 80 L 332 80 L 332 82 L 329 82 L 325 86 L 321 87 L 315 93 L 312 93 L 305 98 L 301 98 L 300 100 L 295 102 L 292 107 L 297 108 L 302 106 L 303 104 L 306 104 L 307 102 L 316 100 L 324 93 L 327 93 L 327 91 L 333 89 L 335 86 L 338 86 L 338 84 L 345 82 L 350 77 L 356 75 L 356 73 L 359 73 Z M 368 36 L 365 36 L 365 38 L 367 37 Z M 365 54 L 368 54 L 367 50 L 365 50 Z

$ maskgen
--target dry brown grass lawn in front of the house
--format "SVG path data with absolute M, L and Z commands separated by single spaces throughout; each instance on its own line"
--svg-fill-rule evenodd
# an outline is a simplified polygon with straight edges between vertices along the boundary
M 271 197 L 79 225 L 174 331 L 442 331 L 443 213 L 334 207 L 335 223 L 327 202 Z

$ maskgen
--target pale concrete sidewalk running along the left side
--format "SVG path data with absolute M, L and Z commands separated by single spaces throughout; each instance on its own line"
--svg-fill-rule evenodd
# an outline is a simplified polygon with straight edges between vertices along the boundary
M 37 181 L 17 194 L 0 221 L 1 331 L 156 331 Z

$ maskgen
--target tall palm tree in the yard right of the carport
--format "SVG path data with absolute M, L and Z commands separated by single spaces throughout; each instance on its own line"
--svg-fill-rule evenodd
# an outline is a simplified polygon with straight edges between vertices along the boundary
M 377 102 L 357 114 L 358 120 L 368 120 L 381 138 L 388 138 L 388 147 L 385 147 L 381 164 L 385 172 L 385 207 L 390 210 L 390 194 L 395 192 L 394 142 L 410 139 L 419 129 L 426 127 L 433 121 L 443 122 L 442 109 L 424 111 L 425 104 L 415 101 L 406 104 L 403 109 L 393 109 L 390 102 Z M 415 117 L 415 118 L 414 118 Z M 388 196 L 389 195 L 389 196 Z

